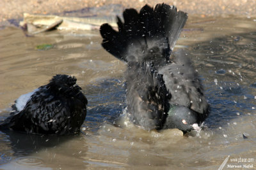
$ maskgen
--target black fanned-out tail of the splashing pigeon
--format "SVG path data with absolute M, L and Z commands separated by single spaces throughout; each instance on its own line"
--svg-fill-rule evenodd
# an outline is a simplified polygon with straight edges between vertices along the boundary
M 155 53 L 157 58 L 168 60 L 188 19 L 187 13 L 177 11 L 175 6 L 168 4 L 157 4 L 155 8 L 145 5 L 140 13 L 127 9 L 123 15 L 124 22 L 117 17 L 118 31 L 103 24 L 100 34 L 103 38 L 102 46 L 126 62 L 154 61 L 154 58 L 148 59 L 150 52 Z

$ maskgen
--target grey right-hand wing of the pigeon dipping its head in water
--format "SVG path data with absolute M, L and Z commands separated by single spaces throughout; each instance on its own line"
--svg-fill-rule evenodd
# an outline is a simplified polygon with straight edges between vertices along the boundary
M 176 53 L 173 62 L 159 69 L 164 84 L 172 95 L 171 105 L 186 106 L 198 113 L 207 113 L 208 104 L 202 85 L 184 50 Z

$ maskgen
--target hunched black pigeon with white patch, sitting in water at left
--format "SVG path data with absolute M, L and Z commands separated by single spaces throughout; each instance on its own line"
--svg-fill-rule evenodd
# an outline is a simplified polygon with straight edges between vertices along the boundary
M 87 99 L 74 76 L 57 74 L 47 85 L 15 101 L 0 130 L 33 134 L 72 134 L 80 131 L 86 117 Z

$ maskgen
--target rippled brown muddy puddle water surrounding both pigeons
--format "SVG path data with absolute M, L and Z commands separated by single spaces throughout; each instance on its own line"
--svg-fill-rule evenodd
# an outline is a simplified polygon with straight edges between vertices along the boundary
M 75 136 L 0 132 L 0 168 L 218 169 L 229 155 L 223 169 L 255 169 L 255 28 L 252 18 L 189 18 L 176 48 L 190 53 L 211 115 L 204 131 L 186 136 L 175 130 L 146 132 L 125 118 L 122 128 L 113 125 L 125 108 L 125 65 L 101 48 L 99 32 L 52 31 L 26 37 L 20 29 L 2 29 L 2 119 L 17 97 L 54 74 L 76 76 L 89 104 L 82 133 Z M 45 44 L 49 48 L 38 49 Z

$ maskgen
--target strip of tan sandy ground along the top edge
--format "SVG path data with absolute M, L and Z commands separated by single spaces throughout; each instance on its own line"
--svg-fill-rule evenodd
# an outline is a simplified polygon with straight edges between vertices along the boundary
M 33 14 L 52 14 L 63 11 L 80 10 L 86 7 L 103 6 L 105 4 L 122 4 L 125 8 L 140 9 L 145 4 L 155 5 L 163 1 L 155 0 L 1 0 L 0 22 L 22 18 L 24 12 Z M 174 4 L 179 10 L 189 15 L 239 15 L 244 17 L 256 16 L 255 0 L 175 0 L 164 1 Z

